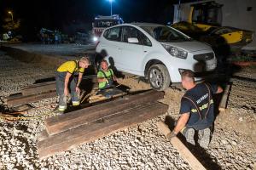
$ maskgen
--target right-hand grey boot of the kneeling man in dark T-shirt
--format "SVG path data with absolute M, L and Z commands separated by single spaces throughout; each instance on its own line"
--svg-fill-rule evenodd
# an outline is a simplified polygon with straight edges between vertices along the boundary
M 211 129 L 209 127 L 198 131 L 198 143 L 202 148 L 207 149 L 210 143 Z

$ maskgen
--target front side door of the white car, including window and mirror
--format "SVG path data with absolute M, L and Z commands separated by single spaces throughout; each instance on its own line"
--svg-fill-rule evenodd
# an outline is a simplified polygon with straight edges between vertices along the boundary
M 137 74 L 142 72 L 142 63 L 145 56 L 143 50 L 143 42 L 140 35 L 143 34 L 141 31 L 133 26 L 123 26 L 122 28 L 122 45 L 121 48 L 121 58 L 119 58 L 119 63 L 122 63 L 124 71 Z M 138 39 L 137 43 L 128 42 L 128 38 L 136 37 Z

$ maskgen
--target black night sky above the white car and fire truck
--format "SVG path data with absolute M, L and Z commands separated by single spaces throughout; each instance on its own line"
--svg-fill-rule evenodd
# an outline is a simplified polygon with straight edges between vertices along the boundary
M 173 3 L 177 0 L 114 0 L 113 14 L 125 22 L 143 21 L 166 24 L 172 20 Z M 65 26 L 91 25 L 97 14 L 110 15 L 107 0 L 0 0 L 1 23 L 10 17 L 20 19 L 23 31 L 38 31 L 41 27 L 63 30 Z M 0 30 L 1 31 L 1 30 Z M 3 29 L 2 29 L 3 31 Z

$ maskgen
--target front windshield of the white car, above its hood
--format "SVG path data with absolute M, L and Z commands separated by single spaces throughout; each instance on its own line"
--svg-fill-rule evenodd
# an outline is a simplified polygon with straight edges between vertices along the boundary
M 191 41 L 190 37 L 175 31 L 169 26 L 140 26 L 159 42 L 184 42 Z

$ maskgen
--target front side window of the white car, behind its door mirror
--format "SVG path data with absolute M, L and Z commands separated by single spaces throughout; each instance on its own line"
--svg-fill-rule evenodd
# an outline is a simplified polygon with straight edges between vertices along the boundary
M 122 31 L 122 42 L 128 42 L 129 37 L 136 37 L 138 39 L 138 43 L 140 45 L 147 45 L 151 46 L 151 42 L 146 37 L 143 32 L 137 30 L 136 28 L 132 26 L 123 26 L 123 31 Z

